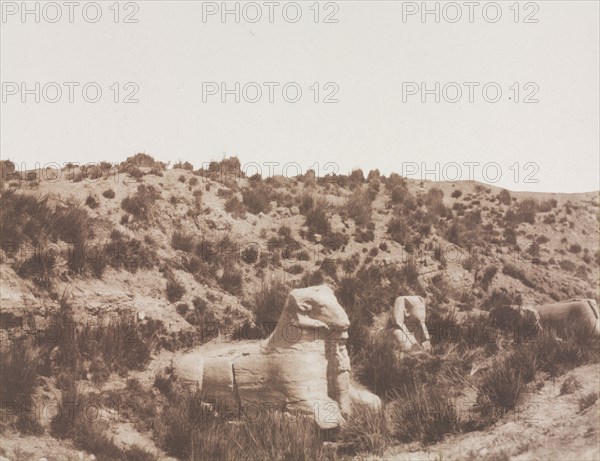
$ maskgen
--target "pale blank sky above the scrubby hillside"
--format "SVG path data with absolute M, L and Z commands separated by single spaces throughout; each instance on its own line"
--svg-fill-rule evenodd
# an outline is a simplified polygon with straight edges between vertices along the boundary
M 439 4 L 439 22 L 434 14 L 423 22 L 420 11 L 403 21 L 403 10 L 421 2 L 321 2 L 317 23 L 313 1 L 277 2 L 272 23 L 268 2 L 239 3 L 239 23 L 233 14 L 223 22 L 219 11 L 203 21 L 203 9 L 221 2 L 121 2 L 118 23 L 112 1 L 98 3 L 96 23 L 82 11 L 94 20 L 93 2 L 73 7 L 72 23 L 65 2 L 28 2 L 34 11 L 39 3 L 39 23 L 33 13 L 21 16 L 21 3 L 2 2 L 0 152 L 27 168 L 118 162 L 137 152 L 197 168 L 237 155 L 261 165 L 264 176 L 270 162 L 280 163 L 277 174 L 295 162 L 303 171 L 318 164 L 321 174 L 378 168 L 419 178 L 425 167 L 427 179 L 470 179 L 472 171 L 512 190 L 600 188 L 598 1 L 520 2 L 517 23 L 513 1 L 499 2 L 495 23 L 495 6 L 486 6 L 493 2 L 478 2 L 472 23 L 465 2 L 426 2 L 432 10 Z M 462 17 L 452 23 L 456 6 Z M 251 22 L 257 7 L 262 17 Z M 138 22 L 124 23 L 128 14 Z M 325 23 L 327 15 L 337 23 Z M 73 102 L 64 82 L 74 82 Z M 96 103 L 82 95 L 90 82 L 89 98 L 102 89 Z M 250 85 L 246 99 L 236 103 L 232 94 L 223 103 L 220 93 L 203 101 L 203 82 Z M 274 82 L 272 103 L 264 82 Z M 296 103 L 282 95 L 290 82 L 289 98 L 302 90 Z M 422 82 L 432 90 L 450 83 L 446 98 L 436 103 L 431 94 L 423 103 L 418 93 L 403 101 L 403 88 Z M 465 82 L 473 82 L 474 102 Z M 25 102 L 22 83 L 33 90 Z M 498 102 L 484 99 L 486 84 L 488 101 L 500 88 Z M 256 86 L 262 97 L 251 103 Z M 456 87 L 463 94 L 451 103 Z M 139 102 L 125 104 L 136 88 Z M 338 102 L 324 103 L 334 90 Z M 539 102 L 523 102 L 528 96 Z

